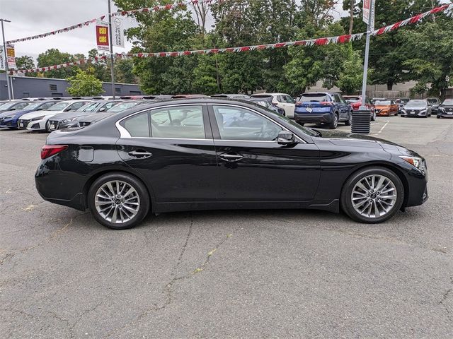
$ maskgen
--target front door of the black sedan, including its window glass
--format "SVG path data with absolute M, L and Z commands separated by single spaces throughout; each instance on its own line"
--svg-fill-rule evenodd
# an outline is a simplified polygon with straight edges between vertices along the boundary
M 310 201 L 319 183 L 319 149 L 279 145 L 282 126 L 239 105 L 210 105 L 219 201 Z

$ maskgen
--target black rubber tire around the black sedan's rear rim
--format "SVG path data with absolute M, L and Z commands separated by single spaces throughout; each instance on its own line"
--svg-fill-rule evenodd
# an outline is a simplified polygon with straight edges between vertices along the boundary
M 125 221 L 125 222 L 120 222 L 120 223 L 114 223 L 106 220 L 103 218 L 103 216 L 98 212 L 96 209 L 96 204 L 95 204 L 95 196 L 96 192 L 98 189 L 103 186 L 103 184 L 106 184 L 107 182 L 110 181 L 121 181 L 129 184 L 132 186 L 135 191 L 138 194 L 139 197 L 139 207 L 137 214 L 134 215 L 131 220 Z M 149 211 L 149 194 L 147 191 L 147 188 L 142 184 L 142 182 L 139 181 L 136 177 L 133 177 L 130 174 L 125 174 L 121 172 L 112 172 L 103 175 L 102 177 L 99 177 L 96 179 L 95 182 L 91 185 L 89 191 L 88 191 L 88 208 L 91 210 L 91 213 L 93 214 L 93 217 L 96 219 L 97 222 L 99 222 L 101 225 L 111 228 L 113 230 L 126 230 L 127 228 L 132 228 L 137 226 L 144 217 L 147 216 L 148 211 Z M 127 200 L 127 199 L 126 199 Z M 113 205 L 113 203 L 112 203 Z

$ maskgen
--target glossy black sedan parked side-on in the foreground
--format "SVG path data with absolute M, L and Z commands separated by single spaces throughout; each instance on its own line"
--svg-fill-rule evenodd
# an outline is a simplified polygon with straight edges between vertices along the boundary
M 273 111 L 197 98 L 50 133 L 35 174 L 47 201 L 133 227 L 151 210 L 315 208 L 376 223 L 426 201 L 423 157 L 369 136 L 307 129 Z

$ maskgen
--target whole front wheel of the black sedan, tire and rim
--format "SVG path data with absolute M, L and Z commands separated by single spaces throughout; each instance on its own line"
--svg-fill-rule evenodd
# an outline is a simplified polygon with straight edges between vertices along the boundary
M 388 220 L 401 208 L 401 179 L 384 167 L 365 168 L 352 174 L 341 192 L 341 206 L 353 220 L 374 224 Z

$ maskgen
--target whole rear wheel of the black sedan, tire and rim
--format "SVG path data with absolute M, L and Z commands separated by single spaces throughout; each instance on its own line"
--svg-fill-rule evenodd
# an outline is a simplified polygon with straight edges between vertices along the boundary
M 149 210 L 149 194 L 135 177 L 113 172 L 96 179 L 88 191 L 88 206 L 101 225 L 114 230 L 134 227 Z

